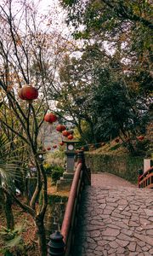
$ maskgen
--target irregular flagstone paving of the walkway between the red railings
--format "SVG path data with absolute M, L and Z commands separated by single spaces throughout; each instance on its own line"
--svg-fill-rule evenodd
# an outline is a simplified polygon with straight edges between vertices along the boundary
M 153 190 L 92 175 L 82 195 L 73 256 L 153 255 Z

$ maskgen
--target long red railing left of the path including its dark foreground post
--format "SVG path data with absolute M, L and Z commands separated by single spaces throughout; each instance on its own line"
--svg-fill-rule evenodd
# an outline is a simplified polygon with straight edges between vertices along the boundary
M 48 256 L 72 256 L 71 248 L 75 239 L 77 213 L 80 207 L 82 189 L 85 185 L 91 185 L 91 173 L 85 165 L 83 152 L 80 151 L 77 154 L 77 168 L 71 184 L 71 191 L 66 205 L 61 231 L 60 233 L 59 231 L 55 232 L 50 236 L 51 241 L 48 243 Z

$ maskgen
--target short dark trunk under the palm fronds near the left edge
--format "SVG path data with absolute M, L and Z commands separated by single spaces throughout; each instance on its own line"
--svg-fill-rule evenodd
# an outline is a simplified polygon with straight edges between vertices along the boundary
M 14 230 L 14 214 L 12 212 L 12 198 L 10 195 L 5 194 L 4 212 L 7 221 L 7 228 Z

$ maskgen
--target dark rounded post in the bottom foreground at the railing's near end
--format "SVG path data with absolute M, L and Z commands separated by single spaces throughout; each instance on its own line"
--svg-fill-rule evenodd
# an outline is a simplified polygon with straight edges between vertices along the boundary
M 54 232 L 50 236 L 50 241 L 48 242 L 48 256 L 64 256 L 65 255 L 65 243 L 63 241 L 63 236 L 59 231 Z

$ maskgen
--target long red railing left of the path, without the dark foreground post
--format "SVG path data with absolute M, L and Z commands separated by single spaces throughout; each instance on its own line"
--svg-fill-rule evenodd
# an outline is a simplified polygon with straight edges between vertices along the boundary
M 77 212 L 84 185 L 91 184 L 89 169 L 85 166 L 83 154 L 78 155 L 77 168 L 71 184 L 71 192 L 65 209 L 65 216 L 61 227 L 61 235 L 65 242 L 65 256 L 71 256 L 71 247 L 75 237 Z

